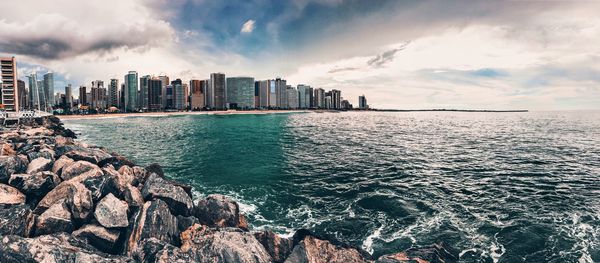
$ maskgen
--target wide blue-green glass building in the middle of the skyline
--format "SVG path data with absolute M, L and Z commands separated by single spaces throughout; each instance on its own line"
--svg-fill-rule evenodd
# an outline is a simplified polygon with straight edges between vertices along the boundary
M 254 78 L 233 77 L 227 78 L 227 105 L 228 108 L 253 109 L 254 106 Z

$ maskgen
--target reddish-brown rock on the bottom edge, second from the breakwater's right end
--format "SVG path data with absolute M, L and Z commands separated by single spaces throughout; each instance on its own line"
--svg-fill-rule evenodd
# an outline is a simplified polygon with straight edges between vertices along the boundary
M 286 263 L 346 263 L 367 262 L 358 250 L 353 248 L 344 248 L 331 244 L 329 241 L 320 240 L 314 236 L 306 236 L 298 243 L 290 256 L 285 260 Z

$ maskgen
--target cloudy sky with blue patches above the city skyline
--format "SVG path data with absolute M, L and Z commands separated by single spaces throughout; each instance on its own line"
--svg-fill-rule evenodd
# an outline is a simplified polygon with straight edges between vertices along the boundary
M 212 72 L 387 109 L 600 109 L 595 0 L 19 0 L 0 56 L 55 90 Z

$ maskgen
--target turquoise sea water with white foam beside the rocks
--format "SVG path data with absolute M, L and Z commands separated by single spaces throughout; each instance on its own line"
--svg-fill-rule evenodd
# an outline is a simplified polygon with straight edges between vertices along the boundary
M 254 228 L 462 262 L 600 261 L 600 112 L 68 120 L 82 141 L 223 193 Z

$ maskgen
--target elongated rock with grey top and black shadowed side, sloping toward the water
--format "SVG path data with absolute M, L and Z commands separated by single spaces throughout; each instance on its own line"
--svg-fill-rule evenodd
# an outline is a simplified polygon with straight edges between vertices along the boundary
M 151 174 L 142 188 L 142 196 L 145 200 L 161 199 L 171 208 L 175 215 L 190 215 L 194 203 L 183 188 L 168 183 L 157 174 Z

